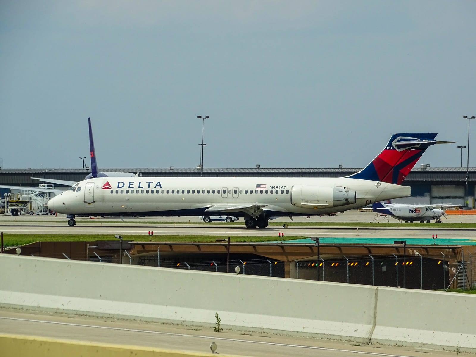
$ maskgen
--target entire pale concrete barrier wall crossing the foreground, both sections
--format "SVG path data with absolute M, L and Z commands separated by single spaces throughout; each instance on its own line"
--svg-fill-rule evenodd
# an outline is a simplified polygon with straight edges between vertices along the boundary
M 476 296 L 0 255 L 0 306 L 476 352 Z M 453 348 L 454 347 L 454 348 Z

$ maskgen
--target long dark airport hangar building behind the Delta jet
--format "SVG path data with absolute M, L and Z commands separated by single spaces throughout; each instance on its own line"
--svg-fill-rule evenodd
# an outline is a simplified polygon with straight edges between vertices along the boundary
M 201 172 L 198 169 L 103 169 L 103 172 L 131 172 L 139 173 L 142 177 L 197 177 Z M 203 169 L 203 177 L 343 177 L 351 175 L 360 169 Z M 466 173 L 468 180 L 466 183 Z M 0 185 L 38 187 L 41 183 L 36 178 L 50 178 L 68 181 L 81 181 L 90 171 L 88 169 L 0 169 Z M 476 168 L 430 168 L 428 164 L 421 164 L 413 168 L 404 185 L 411 187 L 410 198 L 400 198 L 396 203 L 408 204 L 438 204 L 451 203 L 466 206 L 466 185 L 468 206 L 475 207 L 474 196 L 476 186 Z M 55 185 L 60 188 L 60 186 Z M 10 190 L 0 188 L 0 195 Z

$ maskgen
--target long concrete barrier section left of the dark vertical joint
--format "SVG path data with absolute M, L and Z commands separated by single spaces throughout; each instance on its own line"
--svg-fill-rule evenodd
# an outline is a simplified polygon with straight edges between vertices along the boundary
M 169 268 L 0 256 L 0 304 L 366 341 L 372 287 Z

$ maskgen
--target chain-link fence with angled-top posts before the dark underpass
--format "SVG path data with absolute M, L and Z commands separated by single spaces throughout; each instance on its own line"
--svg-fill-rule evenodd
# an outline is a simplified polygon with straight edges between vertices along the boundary
M 473 247 L 470 247 L 473 248 Z M 439 255 L 357 255 L 320 256 L 285 262 L 268 258 L 236 258 L 217 260 L 186 258 L 177 260 L 157 255 L 129 256 L 123 253 L 123 264 L 176 268 L 208 272 L 229 272 L 266 277 L 285 276 L 297 279 L 320 280 L 351 284 L 389 286 L 426 290 L 448 288 L 476 288 L 476 253 L 462 248 L 458 256 Z M 447 254 L 447 253 L 446 253 Z M 90 261 L 119 263 L 119 257 L 94 253 Z M 228 267 L 227 267 L 228 266 Z

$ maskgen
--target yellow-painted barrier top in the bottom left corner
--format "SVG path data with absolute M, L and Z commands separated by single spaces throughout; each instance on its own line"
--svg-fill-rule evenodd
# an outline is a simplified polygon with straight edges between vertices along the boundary
M 210 353 L 0 334 L 2 357 L 210 357 Z M 222 355 L 222 357 L 233 357 Z

